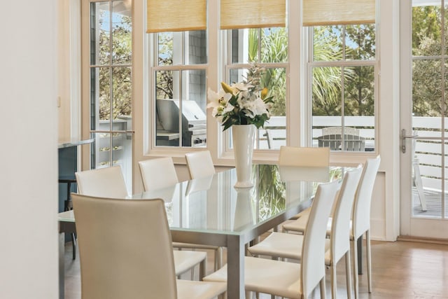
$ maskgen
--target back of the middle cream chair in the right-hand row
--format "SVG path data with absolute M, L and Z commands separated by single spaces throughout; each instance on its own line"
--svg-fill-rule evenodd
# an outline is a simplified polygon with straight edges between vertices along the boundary
M 351 211 L 362 170 L 362 167 L 350 170 L 344 174 L 344 179 L 342 179 L 335 202 L 330 234 L 330 253 L 333 263 L 337 263 L 337 260 L 350 249 Z

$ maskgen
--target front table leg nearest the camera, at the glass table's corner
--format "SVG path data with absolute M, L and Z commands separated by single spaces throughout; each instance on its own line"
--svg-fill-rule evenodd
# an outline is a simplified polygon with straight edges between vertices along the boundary
M 228 299 L 245 298 L 244 244 L 239 236 L 228 237 L 227 278 Z

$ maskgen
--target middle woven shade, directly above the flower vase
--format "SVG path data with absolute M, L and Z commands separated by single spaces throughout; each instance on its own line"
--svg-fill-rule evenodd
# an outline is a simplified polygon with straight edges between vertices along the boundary
M 221 0 L 221 29 L 285 27 L 286 0 Z

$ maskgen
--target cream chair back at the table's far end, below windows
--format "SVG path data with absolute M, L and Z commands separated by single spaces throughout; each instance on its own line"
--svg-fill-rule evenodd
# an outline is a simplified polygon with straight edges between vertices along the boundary
M 328 167 L 330 165 L 330 148 L 281 146 L 279 165 Z

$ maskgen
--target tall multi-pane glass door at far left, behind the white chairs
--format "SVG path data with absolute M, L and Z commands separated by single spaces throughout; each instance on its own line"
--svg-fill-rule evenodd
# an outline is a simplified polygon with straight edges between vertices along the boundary
M 82 4 L 83 125 L 94 139 L 90 168 L 119 165 L 131 191 L 132 1 Z

